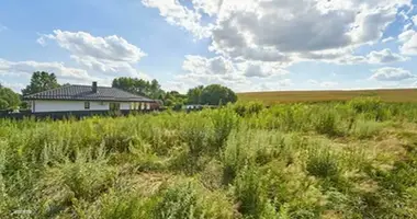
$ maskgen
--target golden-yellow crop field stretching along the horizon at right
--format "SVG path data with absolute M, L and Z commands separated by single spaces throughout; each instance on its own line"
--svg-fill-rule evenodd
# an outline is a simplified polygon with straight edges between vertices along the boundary
M 240 101 L 273 103 L 346 101 L 358 96 L 380 96 L 386 102 L 417 102 L 417 89 L 358 90 L 358 91 L 272 91 L 238 93 Z

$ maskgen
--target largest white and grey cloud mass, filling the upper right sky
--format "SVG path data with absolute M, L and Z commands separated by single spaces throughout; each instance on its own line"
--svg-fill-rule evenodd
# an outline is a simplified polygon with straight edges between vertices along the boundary
M 393 41 L 382 39 L 385 28 L 404 13 L 399 9 L 413 5 L 412 0 L 192 0 L 187 5 L 181 0 L 142 2 L 158 9 L 168 23 L 199 38 L 211 37 L 208 49 L 223 58 L 201 57 L 192 64 L 185 60 L 189 76 L 194 78 L 266 78 L 301 61 L 354 65 L 407 59 L 390 49 L 365 56 L 354 51 L 363 45 Z M 215 74 L 210 65 L 219 65 Z

